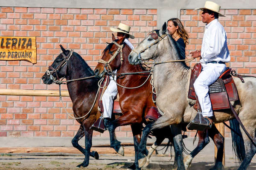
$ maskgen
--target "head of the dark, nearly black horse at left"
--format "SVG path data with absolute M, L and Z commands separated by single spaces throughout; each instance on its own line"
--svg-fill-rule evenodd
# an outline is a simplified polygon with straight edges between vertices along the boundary
M 55 80 L 59 80 L 66 76 L 67 72 L 67 62 L 72 55 L 72 51 L 65 50 L 62 45 L 60 45 L 62 53 L 56 57 L 52 65 L 49 66 L 45 74 L 42 76 L 44 84 L 52 84 Z

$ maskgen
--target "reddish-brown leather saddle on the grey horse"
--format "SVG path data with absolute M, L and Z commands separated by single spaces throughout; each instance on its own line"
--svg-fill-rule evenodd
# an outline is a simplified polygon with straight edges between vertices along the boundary
M 194 82 L 201 73 L 202 65 L 197 63 L 191 73 L 188 98 L 196 100 Z M 230 108 L 229 101 L 239 100 L 236 84 L 231 76 L 231 68 L 227 68 L 223 74 L 209 86 L 209 96 L 212 102 L 212 110 Z M 195 104 L 197 105 L 197 103 Z M 197 108 L 197 107 L 195 107 Z

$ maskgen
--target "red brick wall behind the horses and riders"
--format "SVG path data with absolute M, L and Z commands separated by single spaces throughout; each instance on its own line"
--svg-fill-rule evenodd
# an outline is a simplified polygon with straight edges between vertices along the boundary
M 241 74 L 256 74 L 256 10 L 222 10 L 230 49 L 230 67 Z M 186 54 L 201 48 L 204 23 L 200 11 L 181 10 L 180 19 L 189 32 Z M 111 42 L 110 27 L 119 22 L 131 26 L 136 46 L 157 26 L 156 9 L 0 8 L 1 36 L 36 36 L 38 63 L 0 61 L 0 88 L 57 90 L 44 85 L 41 76 L 60 53 L 59 44 L 74 49 L 94 67 L 105 42 Z M 191 62 L 193 65 L 195 62 Z M 61 87 L 67 89 L 65 85 Z M 74 136 L 78 123 L 70 119 L 58 97 L 0 96 L 0 136 Z M 63 97 L 72 113 L 72 102 Z M 228 130 L 226 136 L 230 137 Z M 194 132 L 189 132 L 193 136 Z M 118 127 L 116 135 L 131 136 L 129 126 Z M 94 132 L 94 136 L 106 136 Z

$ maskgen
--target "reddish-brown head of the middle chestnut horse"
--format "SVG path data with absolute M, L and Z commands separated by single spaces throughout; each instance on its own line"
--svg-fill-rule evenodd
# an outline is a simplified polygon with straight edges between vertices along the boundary
M 103 77 L 106 73 L 111 74 L 122 64 L 122 48 L 124 47 L 125 37 L 116 40 L 112 34 L 113 42 L 103 51 L 102 58 L 99 59 L 98 65 L 94 70 L 96 77 Z

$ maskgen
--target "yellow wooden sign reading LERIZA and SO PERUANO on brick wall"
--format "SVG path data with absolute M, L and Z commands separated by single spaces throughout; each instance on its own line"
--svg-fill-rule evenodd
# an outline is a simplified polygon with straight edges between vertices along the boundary
M 0 37 L 0 60 L 36 63 L 35 37 Z

